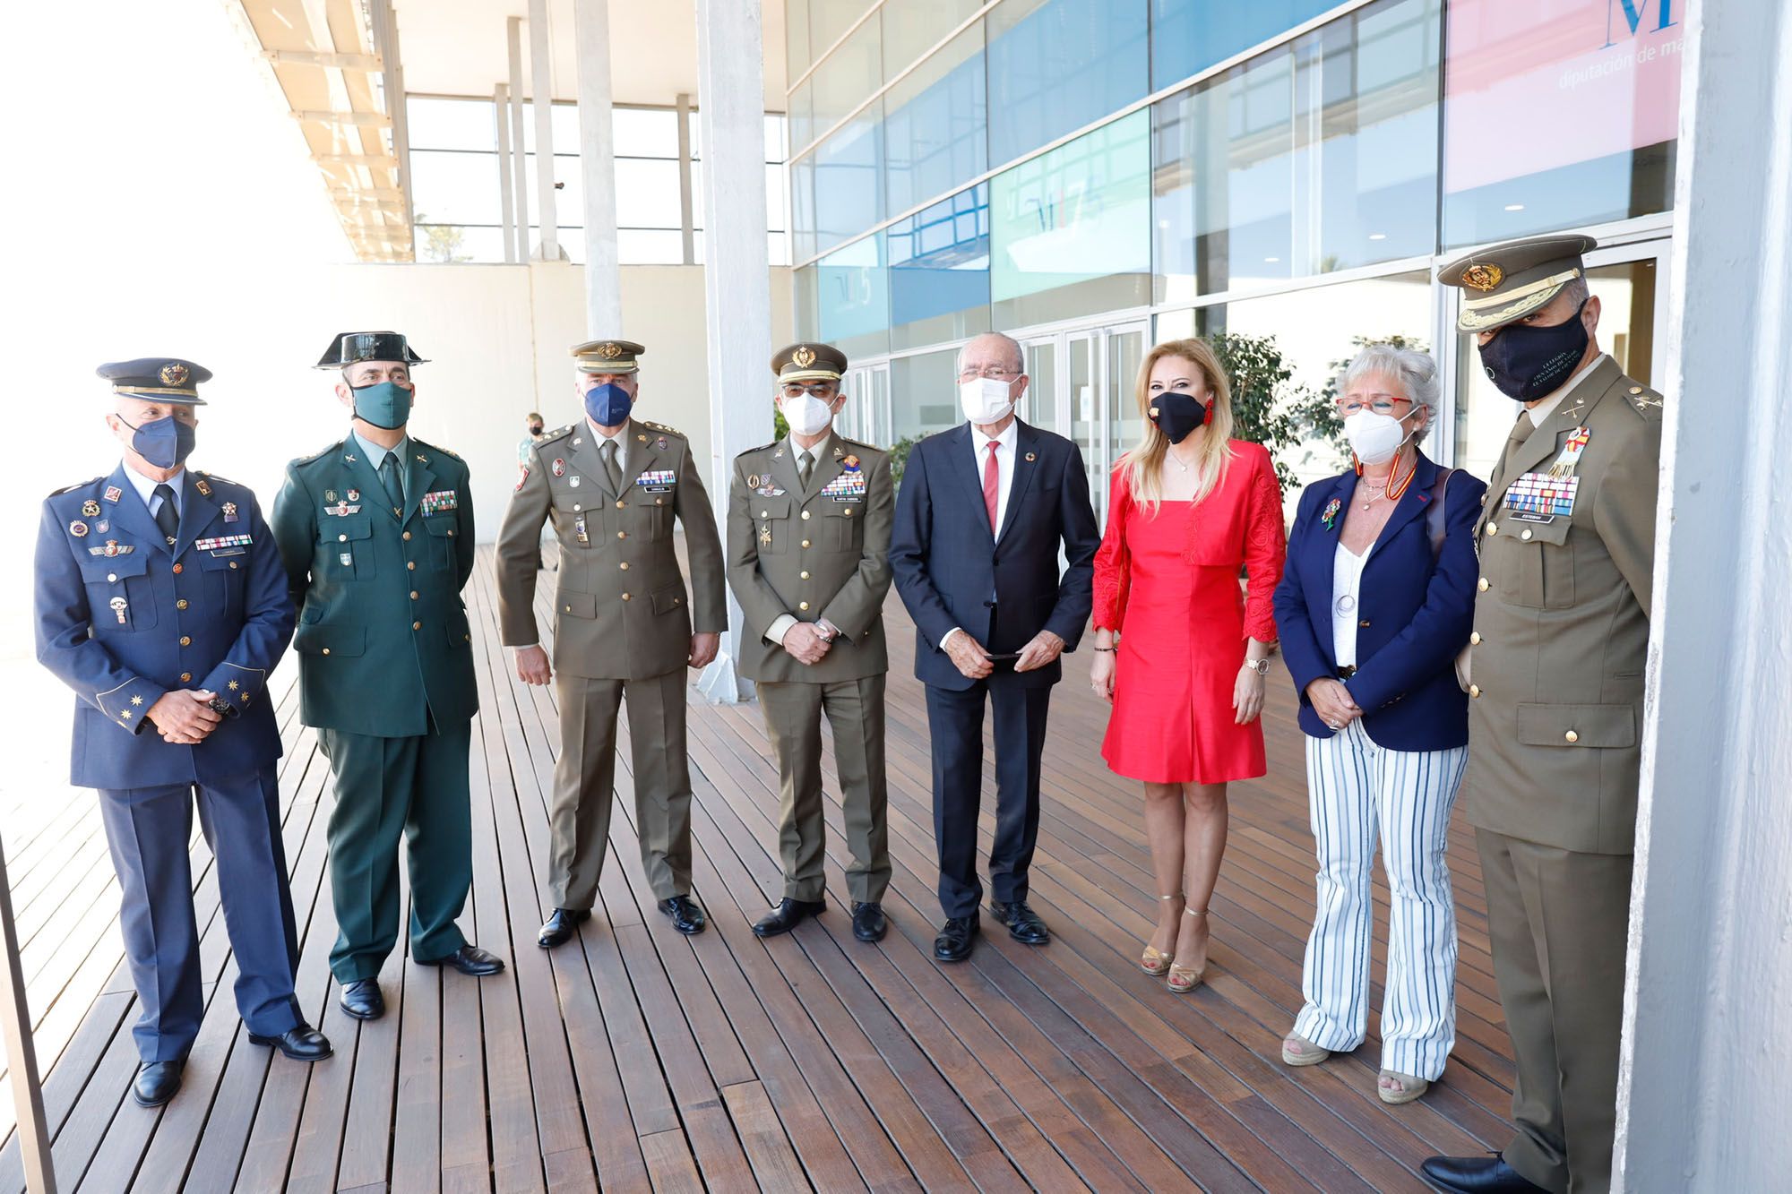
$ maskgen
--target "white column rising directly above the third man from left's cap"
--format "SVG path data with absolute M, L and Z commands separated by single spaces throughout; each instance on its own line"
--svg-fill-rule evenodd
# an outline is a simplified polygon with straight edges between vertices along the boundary
M 584 326 L 625 335 L 616 256 L 616 129 L 609 115 L 609 0 L 575 0 L 579 172 L 584 181 Z

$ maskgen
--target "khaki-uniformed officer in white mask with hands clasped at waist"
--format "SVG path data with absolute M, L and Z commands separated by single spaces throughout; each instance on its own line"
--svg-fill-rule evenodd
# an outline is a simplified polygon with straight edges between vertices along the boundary
M 844 371 L 846 355 L 828 344 L 790 344 L 772 357 L 790 436 L 735 457 L 728 498 L 728 579 L 745 615 L 740 671 L 758 685 L 778 755 L 785 891 L 753 925 L 762 938 L 824 907 L 824 712 L 853 852 L 853 936 L 876 941 L 889 927 L 883 597 L 896 488 L 883 452 L 833 432 Z

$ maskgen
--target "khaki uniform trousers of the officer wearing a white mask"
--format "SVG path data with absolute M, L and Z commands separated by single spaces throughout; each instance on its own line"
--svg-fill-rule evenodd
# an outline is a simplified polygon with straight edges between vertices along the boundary
M 760 683 L 765 737 L 778 755 L 778 853 L 785 896 L 821 900 L 828 819 L 821 794 L 821 715 L 833 726 L 840 814 L 853 862 L 846 893 L 876 904 L 891 882 L 889 783 L 883 771 L 883 676 L 835 683 Z

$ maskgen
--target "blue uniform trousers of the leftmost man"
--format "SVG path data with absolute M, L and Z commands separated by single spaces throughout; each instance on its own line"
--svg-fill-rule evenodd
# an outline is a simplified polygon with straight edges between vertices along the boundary
M 217 783 L 100 789 L 106 844 L 124 889 L 124 948 L 143 1006 L 131 1029 L 143 1061 L 185 1058 L 204 1013 L 186 855 L 195 791 L 199 828 L 211 846 L 224 927 L 237 954 L 237 1011 L 262 1036 L 301 1022 L 292 999 L 299 934 L 280 841 L 274 766 Z

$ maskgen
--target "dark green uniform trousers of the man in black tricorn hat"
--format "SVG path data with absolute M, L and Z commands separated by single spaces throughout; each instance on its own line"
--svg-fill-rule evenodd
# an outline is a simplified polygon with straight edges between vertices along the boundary
M 335 771 L 330 896 L 339 982 L 380 973 L 398 943 L 398 839 L 410 862 L 410 956 L 434 961 L 466 945 L 455 918 L 473 886 L 466 751 L 471 722 L 405 739 L 317 730 Z

